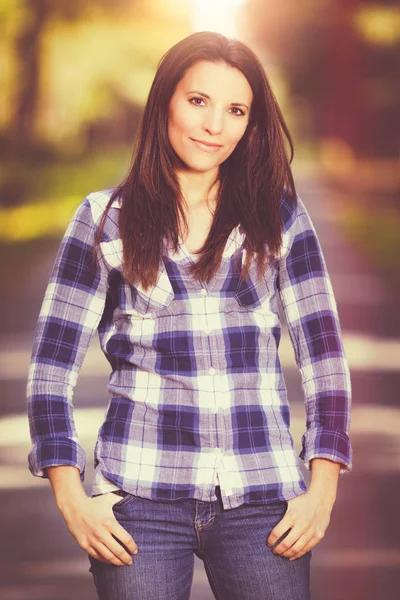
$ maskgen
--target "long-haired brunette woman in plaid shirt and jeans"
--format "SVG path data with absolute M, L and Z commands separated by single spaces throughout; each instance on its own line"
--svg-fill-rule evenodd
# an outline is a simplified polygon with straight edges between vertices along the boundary
M 351 470 L 351 390 L 292 157 L 254 53 L 196 33 L 158 67 L 126 180 L 90 194 L 66 231 L 32 354 L 29 465 L 50 479 L 101 599 L 189 598 L 194 554 L 218 599 L 310 597 L 311 549 Z M 308 489 L 278 296 L 305 394 Z M 71 400 L 96 330 L 111 399 L 89 498 Z

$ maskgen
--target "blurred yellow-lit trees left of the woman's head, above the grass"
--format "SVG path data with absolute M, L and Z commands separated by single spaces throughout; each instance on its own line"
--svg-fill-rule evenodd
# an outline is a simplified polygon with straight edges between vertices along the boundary
M 129 160 L 157 62 L 190 32 L 190 8 L 187 0 L 0 0 L 0 205 L 52 197 L 56 173 L 65 193 L 73 163 L 79 189 L 97 158 L 118 179 L 115 157 Z

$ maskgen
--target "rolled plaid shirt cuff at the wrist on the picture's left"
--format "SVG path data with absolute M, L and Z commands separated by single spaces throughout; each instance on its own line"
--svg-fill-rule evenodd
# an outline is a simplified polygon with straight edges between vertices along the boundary
M 71 438 L 50 438 L 34 444 L 28 454 L 29 470 L 35 477 L 48 479 L 46 467 L 77 467 L 81 481 L 85 478 L 86 454 Z

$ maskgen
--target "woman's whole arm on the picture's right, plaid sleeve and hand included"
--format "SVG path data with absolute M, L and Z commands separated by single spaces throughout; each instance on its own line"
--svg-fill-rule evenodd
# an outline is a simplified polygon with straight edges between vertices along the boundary
M 301 374 L 306 431 L 300 458 L 311 469 L 306 494 L 288 501 L 268 538 L 294 560 L 322 539 L 330 522 L 340 475 L 352 468 L 349 438 L 351 384 L 331 281 L 307 210 L 284 199 L 285 224 L 278 287 L 295 359 Z

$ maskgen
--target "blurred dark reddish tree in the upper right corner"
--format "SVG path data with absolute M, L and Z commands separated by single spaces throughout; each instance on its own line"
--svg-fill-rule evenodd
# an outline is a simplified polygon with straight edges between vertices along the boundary
M 359 157 L 398 155 L 397 2 L 248 0 L 246 31 L 286 72 L 303 111 L 299 137 L 341 140 Z

